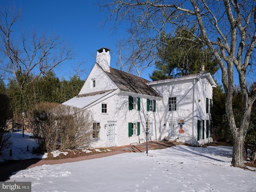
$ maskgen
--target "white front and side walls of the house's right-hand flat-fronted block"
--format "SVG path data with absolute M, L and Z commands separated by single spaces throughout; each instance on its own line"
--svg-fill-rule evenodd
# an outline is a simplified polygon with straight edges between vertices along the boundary
M 206 98 L 212 99 L 212 86 L 203 76 L 194 76 L 181 81 L 163 81 L 163 83 L 151 85 L 163 97 L 158 102 L 159 122 L 156 127 L 160 130 L 160 139 L 180 139 L 180 142 L 188 144 L 204 144 L 212 141 L 212 138 L 206 139 L 206 126 L 204 140 L 197 141 L 197 120 L 209 120 L 209 114 L 206 114 Z M 168 111 L 168 98 L 176 97 L 176 111 Z M 179 119 L 183 119 L 184 125 L 180 133 Z M 169 122 L 175 122 L 175 136 L 170 138 Z M 164 126 L 165 124 L 165 126 Z

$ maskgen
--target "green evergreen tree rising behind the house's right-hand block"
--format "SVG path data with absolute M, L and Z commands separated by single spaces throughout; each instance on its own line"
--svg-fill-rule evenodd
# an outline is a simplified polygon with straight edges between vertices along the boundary
M 152 80 L 196 74 L 201 71 L 202 65 L 211 74 L 218 70 L 213 54 L 204 44 L 196 42 L 193 31 L 178 29 L 174 37 L 162 35 L 157 49 L 159 60 L 150 75 Z

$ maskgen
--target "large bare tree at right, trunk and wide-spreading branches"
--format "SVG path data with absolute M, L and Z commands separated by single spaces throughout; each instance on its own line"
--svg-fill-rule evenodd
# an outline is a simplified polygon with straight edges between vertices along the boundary
M 115 27 L 123 21 L 130 24 L 127 42 L 138 58 L 144 55 L 154 60 L 161 35 L 183 26 L 194 28 L 196 41 L 210 49 L 221 68 L 234 140 L 232 166 L 244 168 L 244 138 L 256 99 L 256 89 L 249 90 L 247 82 L 255 81 L 255 0 L 114 0 L 100 6 L 110 10 L 106 22 L 112 21 Z M 232 108 L 234 72 L 238 73 L 242 92 L 239 122 L 235 122 Z

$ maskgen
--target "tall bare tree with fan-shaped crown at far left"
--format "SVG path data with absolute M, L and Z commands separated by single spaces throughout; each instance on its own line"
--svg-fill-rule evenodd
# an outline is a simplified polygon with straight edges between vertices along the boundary
M 33 82 L 46 72 L 57 68 L 65 60 L 74 58 L 74 52 L 59 36 L 46 33 L 14 32 L 21 16 L 21 9 L 2 6 L 0 10 L 0 52 L 7 57 L 4 62 L 11 66 L 20 92 L 23 95 L 26 83 Z M 19 36 L 19 38 L 17 38 Z M 33 74 L 30 82 L 27 82 Z M 25 106 L 26 103 L 25 103 Z

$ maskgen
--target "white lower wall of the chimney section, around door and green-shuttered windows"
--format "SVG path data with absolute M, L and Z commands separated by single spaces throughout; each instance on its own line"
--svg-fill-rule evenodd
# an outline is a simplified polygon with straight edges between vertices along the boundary
M 138 94 L 130 93 L 133 97 L 138 97 Z M 146 142 L 146 102 L 147 98 L 141 98 L 141 108 L 138 110 L 129 110 L 128 107 L 128 95 L 118 95 L 104 100 L 104 103 L 108 106 L 108 113 L 101 113 L 101 103 L 98 103 L 89 108 L 94 112 L 94 119 L 96 122 L 100 122 L 100 139 L 94 144 L 94 147 L 107 147 L 107 127 L 105 125 L 108 122 L 115 122 L 116 124 L 116 146 L 129 145 L 133 143 Z M 158 101 L 156 101 L 158 102 Z M 153 136 L 150 136 L 150 140 L 159 138 L 159 131 L 155 127 L 155 121 L 159 121 L 158 116 L 155 116 L 156 112 L 148 112 L 148 118 L 153 119 Z M 128 136 L 128 123 L 140 122 L 140 135 Z

